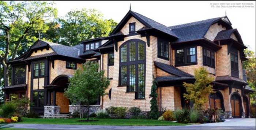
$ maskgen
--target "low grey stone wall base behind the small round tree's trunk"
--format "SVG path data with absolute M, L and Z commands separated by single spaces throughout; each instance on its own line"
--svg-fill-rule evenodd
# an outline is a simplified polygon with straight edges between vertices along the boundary
M 69 105 L 69 113 L 73 114 L 74 111 L 79 111 L 82 107 L 82 112 L 87 113 L 86 105 Z M 90 105 L 89 114 L 95 113 L 97 110 L 101 109 L 101 105 Z

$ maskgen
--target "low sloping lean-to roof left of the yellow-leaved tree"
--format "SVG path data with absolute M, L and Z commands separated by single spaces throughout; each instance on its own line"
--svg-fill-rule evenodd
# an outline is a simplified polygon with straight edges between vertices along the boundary
M 186 72 L 184 72 L 184 71 L 182 71 L 182 70 L 180 70 L 180 69 L 178 69 L 174 66 L 167 65 L 167 64 L 157 62 L 157 61 L 154 61 L 154 64 L 159 69 L 162 69 L 163 71 L 165 71 L 169 74 L 173 74 L 173 75 L 178 76 L 178 77 L 193 77 L 191 74 L 186 73 Z

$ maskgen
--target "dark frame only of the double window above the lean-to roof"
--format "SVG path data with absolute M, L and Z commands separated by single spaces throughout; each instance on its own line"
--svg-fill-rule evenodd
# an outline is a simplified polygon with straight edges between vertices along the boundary
M 189 48 L 195 48 L 195 56 L 196 56 L 196 61 L 195 62 L 187 62 L 188 60 L 188 54 L 187 50 Z M 183 64 L 177 64 L 177 50 L 182 50 L 184 51 L 184 63 Z M 180 47 L 175 49 L 175 66 L 187 66 L 187 65 L 196 65 L 197 64 L 197 46 L 185 46 L 185 47 Z

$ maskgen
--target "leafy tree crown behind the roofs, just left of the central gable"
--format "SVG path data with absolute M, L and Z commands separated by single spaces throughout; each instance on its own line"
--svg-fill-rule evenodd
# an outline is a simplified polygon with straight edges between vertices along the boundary
M 69 11 L 58 23 L 60 43 L 68 46 L 77 45 L 83 40 L 105 37 L 116 27 L 112 19 L 104 20 L 103 14 L 96 9 Z

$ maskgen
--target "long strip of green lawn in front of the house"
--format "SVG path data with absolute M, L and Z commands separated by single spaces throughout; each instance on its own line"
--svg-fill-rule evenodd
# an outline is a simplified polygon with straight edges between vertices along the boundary
M 151 119 L 97 119 L 95 122 L 78 122 L 75 119 L 43 119 L 43 118 L 22 118 L 22 122 L 31 124 L 66 124 L 66 125 L 117 125 L 117 126 L 178 126 L 188 125 L 170 121 L 158 121 Z

